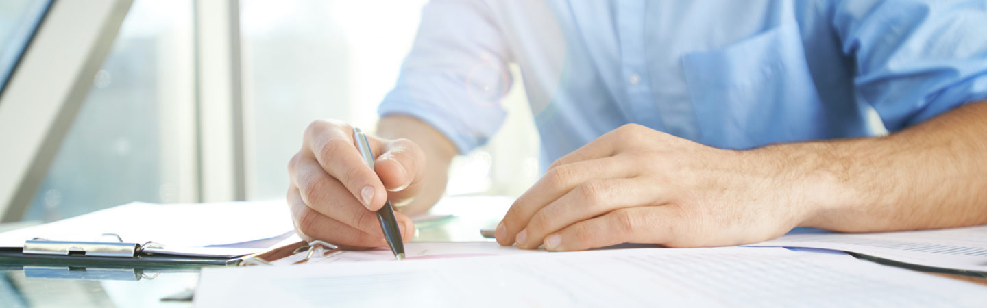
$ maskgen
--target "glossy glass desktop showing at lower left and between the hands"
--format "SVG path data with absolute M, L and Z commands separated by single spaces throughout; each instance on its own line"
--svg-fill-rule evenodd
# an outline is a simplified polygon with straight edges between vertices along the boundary
M 476 215 L 459 211 L 458 217 L 448 223 L 423 227 L 417 230 L 414 241 L 490 241 L 483 238 L 479 230 L 492 225 L 499 217 L 481 208 L 484 207 L 478 206 L 472 212 Z M 0 298 L 3 298 L 3 304 L 13 307 L 190 307 L 190 302 L 162 301 L 161 298 L 189 290 L 198 281 L 198 272 L 194 269 L 164 272 L 153 278 L 134 276 L 130 280 L 28 277 L 23 269 L 2 265 L 0 272 Z M 935 274 L 987 285 L 984 277 Z

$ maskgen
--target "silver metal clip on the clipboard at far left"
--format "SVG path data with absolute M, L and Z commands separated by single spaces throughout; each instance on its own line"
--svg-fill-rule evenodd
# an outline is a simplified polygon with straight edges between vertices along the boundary
M 71 242 L 34 238 L 24 242 L 22 253 L 25 255 L 136 258 L 144 252 L 144 249 L 165 247 L 155 242 L 123 243 L 119 235 L 114 233 L 104 234 L 103 238 L 114 239 L 114 242 Z

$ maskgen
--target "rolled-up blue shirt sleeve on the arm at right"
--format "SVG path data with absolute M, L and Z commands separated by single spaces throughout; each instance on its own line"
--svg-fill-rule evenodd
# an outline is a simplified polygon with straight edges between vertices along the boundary
M 847 0 L 833 11 L 857 100 L 888 131 L 987 99 L 987 3 Z

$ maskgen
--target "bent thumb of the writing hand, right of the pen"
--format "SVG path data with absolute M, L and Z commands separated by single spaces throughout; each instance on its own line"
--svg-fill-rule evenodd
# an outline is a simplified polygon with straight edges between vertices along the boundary
M 384 153 L 377 157 L 375 169 L 384 188 L 398 198 L 418 193 L 424 178 L 425 154 L 418 144 L 409 139 L 395 139 L 384 145 Z M 395 195 L 397 194 L 397 195 Z

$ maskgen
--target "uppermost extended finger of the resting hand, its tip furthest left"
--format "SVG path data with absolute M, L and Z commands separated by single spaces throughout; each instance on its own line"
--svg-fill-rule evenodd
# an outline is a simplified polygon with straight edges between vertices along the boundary
M 511 204 L 494 232 L 497 243 L 503 246 L 513 244 L 518 232 L 528 225 L 531 216 L 582 183 L 590 180 L 637 176 L 640 169 L 635 164 L 631 159 L 606 157 L 575 162 L 549 170 L 531 189 Z

